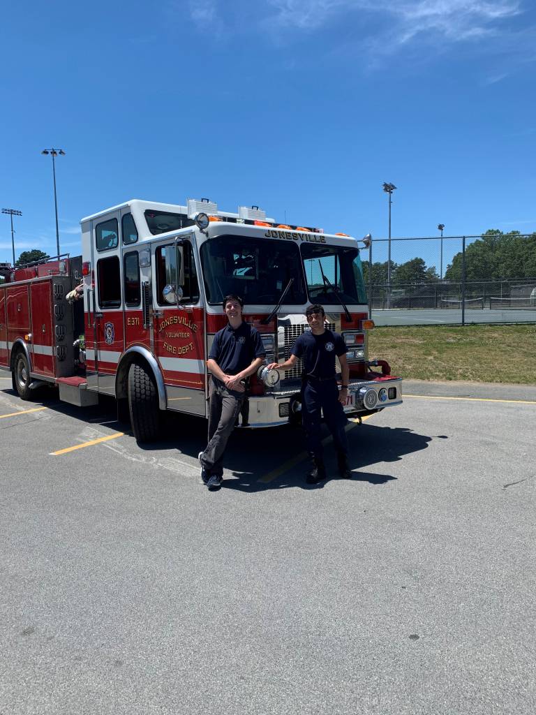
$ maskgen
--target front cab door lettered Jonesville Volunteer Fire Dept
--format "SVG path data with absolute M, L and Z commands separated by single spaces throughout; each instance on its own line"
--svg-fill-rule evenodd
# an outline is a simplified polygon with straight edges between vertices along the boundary
M 205 415 L 204 309 L 192 236 L 155 243 L 152 258 L 154 354 L 164 374 L 168 409 Z

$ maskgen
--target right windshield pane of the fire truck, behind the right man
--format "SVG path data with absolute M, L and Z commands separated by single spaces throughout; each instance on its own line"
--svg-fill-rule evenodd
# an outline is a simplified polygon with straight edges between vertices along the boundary
M 354 247 L 302 244 L 305 279 L 313 303 L 340 305 L 367 302 L 359 251 Z M 337 290 L 337 297 L 322 273 Z

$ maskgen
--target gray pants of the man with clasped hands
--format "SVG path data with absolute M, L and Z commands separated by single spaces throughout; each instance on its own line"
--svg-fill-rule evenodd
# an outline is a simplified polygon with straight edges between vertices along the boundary
M 242 408 L 244 393 L 227 390 L 219 380 L 210 380 L 209 391 L 209 443 L 202 453 L 202 466 L 210 474 L 223 476 L 223 455 L 227 440 Z

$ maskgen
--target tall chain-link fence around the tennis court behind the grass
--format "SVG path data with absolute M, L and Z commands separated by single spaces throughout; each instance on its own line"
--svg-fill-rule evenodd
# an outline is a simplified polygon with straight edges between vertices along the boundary
M 362 262 L 377 325 L 536 322 L 536 233 L 381 238 Z

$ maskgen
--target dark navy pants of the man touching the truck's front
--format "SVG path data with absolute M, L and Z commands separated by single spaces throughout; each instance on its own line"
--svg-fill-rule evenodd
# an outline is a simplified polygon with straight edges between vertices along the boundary
M 322 459 L 322 418 L 326 420 L 333 435 L 335 449 L 341 455 L 348 454 L 348 439 L 344 430 L 347 419 L 339 403 L 339 388 L 336 380 L 307 380 L 302 388 L 302 420 L 307 441 L 307 451 L 317 459 Z

